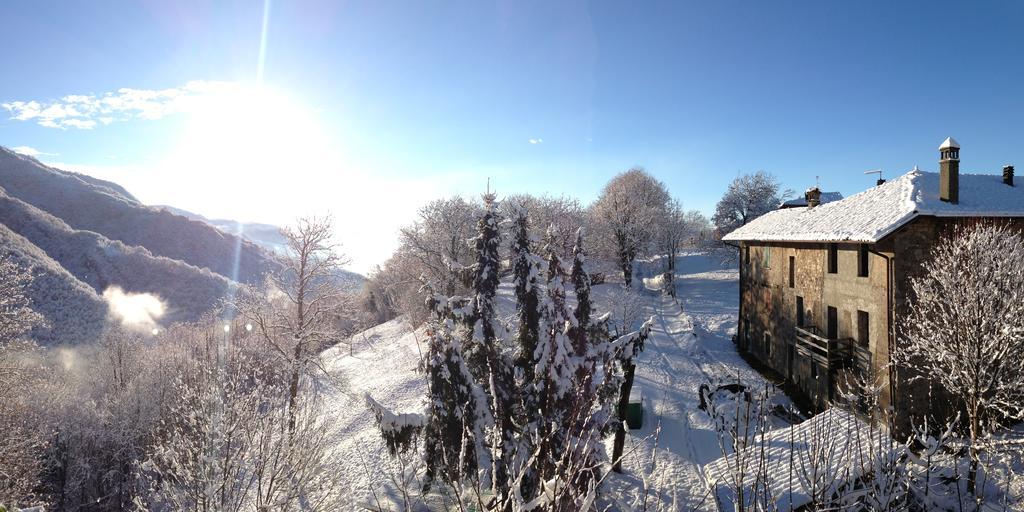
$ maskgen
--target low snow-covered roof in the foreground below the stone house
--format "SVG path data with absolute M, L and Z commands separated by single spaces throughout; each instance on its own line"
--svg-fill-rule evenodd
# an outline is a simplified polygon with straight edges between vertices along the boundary
M 870 471 L 873 457 L 893 449 L 882 441 L 888 438 L 888 433 L 872 429 L 853 413 L 829 409 L 799 425 L 771 430 L 738 454 L 712 461 L 703 471 L 725 509 L 734 508 L 742 482 L 744 502 L 756 496 L 755 485 L 767 484 L 777 509 L 793 510 Z M 759 473 L 762 457 L 767 483 L 758 480 L 763 478 Z M 740 468 L 744 470 L 741 480 Z

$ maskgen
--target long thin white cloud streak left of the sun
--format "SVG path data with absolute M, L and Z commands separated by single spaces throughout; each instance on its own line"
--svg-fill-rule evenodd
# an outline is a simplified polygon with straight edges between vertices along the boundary
M 59 99 L 8 101 L 0 106 L 10 119 L 47 128 L 91 130 L 133 119 L 158 120 L 193 110 L 204 97 L 238 90 L 239 84 L 195 80 L 169 89 L 121 88 L 102 94 L 68 94 Z M 258 105 L 253 105 L 254 108 Z

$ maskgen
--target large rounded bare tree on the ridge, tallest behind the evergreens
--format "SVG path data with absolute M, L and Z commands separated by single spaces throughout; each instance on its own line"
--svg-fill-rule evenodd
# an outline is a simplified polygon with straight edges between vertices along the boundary
M 632 286 L 633 262 L 650 249 L 669 201 L 665 183 L 634 168 L 611 178 L 591 205 L 592 230 L 599 248 L 613 255 L 626 286 Z

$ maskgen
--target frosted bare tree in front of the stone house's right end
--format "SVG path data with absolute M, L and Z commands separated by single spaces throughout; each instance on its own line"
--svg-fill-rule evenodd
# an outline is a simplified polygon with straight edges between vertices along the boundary
M 1024 237 L 995 224 L 957 227 L 932 252 L 893 361 L 958 398 L 967 415 L 976 493 L 983 441 L 1024 418 Z M 977 496 L 977 495 L 975 495 Z

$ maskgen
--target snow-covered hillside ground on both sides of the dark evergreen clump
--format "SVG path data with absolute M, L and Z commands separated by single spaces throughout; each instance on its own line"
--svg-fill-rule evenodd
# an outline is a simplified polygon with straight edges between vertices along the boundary
M 640 265 L 639 281 L 660 271 L 656 262 Z M 722 456 L 709 415 L 699 409 L 705 383 L 740 382 L 753 390 L 770 386 L 739 356 L 731 337 L 736 329 L 738 272 L 700 253 L 678 261 L 678 302 L 654 290 L 640 293 L 644 316 L 654 325 L 637 362 L 636 387 L 644 396 L 643 428 L 630 433 L 622 475 L 607 482 L 607 504 L 629 509 L 643 500 L 675 503 L 672 509 L 710 509 L 702 467 Z M 653 281 L 647 279 L 649 286 Z M 599 309 L 610 308 L 621 285 L 594 287 Z M 500 306 L 511 304 L 503 286 Z M 352 355 L 347 346 L 325 354 L 329 371 L 345 382 L 329 396 L 329 415 L 345 464 L 339 468 L 351 482 L 353 499 L 367 500 L 374 488 L 390 481 L 396 465 L 381 441 L 364 400 L 366 392 L 392 411 L 421 411 L 426 384 L 416 371 L 423 342 L 401 319 L 357 335 Z M 785 404 L 784 397 L 781 402 Z M 781 421 L 781 420 L 779 420 Z M 659 434 L 654 436 L 659 427 Z M 646 486 L 644 481 L 647 482 Z M 372 500 L 372 499 L 371 499 Z

